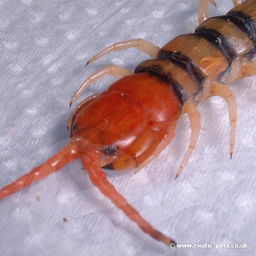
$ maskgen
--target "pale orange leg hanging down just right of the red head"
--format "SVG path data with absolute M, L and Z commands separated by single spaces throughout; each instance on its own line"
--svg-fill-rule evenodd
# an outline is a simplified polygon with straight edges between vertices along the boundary
M 196 109 L 196 105 L 194 102 L 188 102 L 184 107 L 184 112 L 188 115 L 189 121 L 190 121 L 190 127 L 191 127 L 191 137 L 189 142 L 189 149 L 186 152 L 186 155 L 180 165 L 179 171 L 176 174 L 175 179 L 178 178 L 178 176 L 181 174 L 181 171 L 183 171 L 186 162 L 189 160 L 189 157 L 191 156 L 193 150 L 195 149 L 196 142 L 198 141 L 199 132 L 201 129 L 200 124 L 200 113 Z

